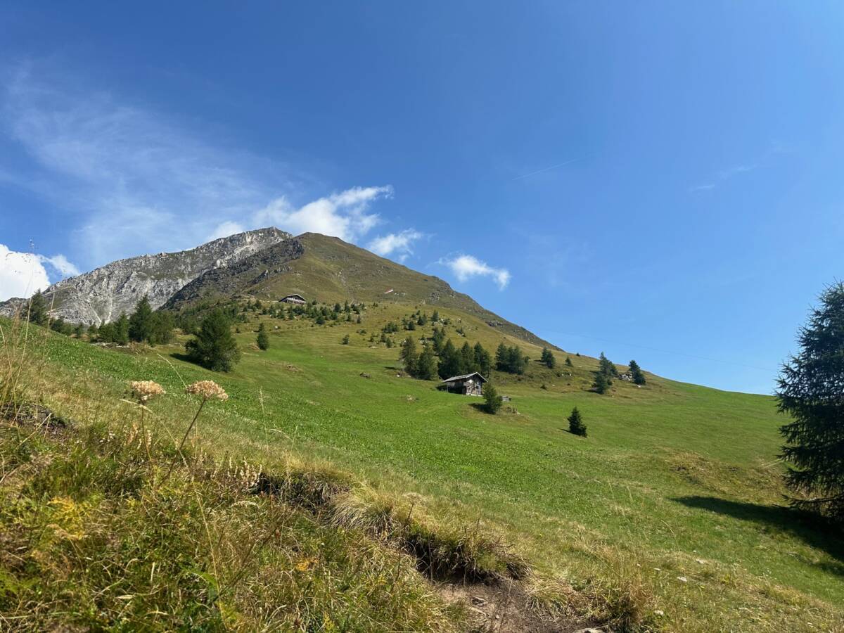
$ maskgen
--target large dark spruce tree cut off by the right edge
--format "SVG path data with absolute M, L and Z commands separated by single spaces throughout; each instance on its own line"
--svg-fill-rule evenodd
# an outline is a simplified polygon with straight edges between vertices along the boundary
M 782 365 L 776 398 L 792 420 L 780 433 L 793 506 L 844 523 L 844 284 L 820 295 L 799 333 L 800 352 Z

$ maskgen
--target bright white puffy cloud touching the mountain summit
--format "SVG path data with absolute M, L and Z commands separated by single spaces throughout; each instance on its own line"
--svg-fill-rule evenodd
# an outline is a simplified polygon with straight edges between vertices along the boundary
M 295 208 L 286 197 L 278 197 L 262 208 L 255 224 L 273 224 L 298 235 L 322 233 L 345 241 L 355 241 L 366 235 L 381 218 L 368 212 L 379 197 L 391 197 L 392 187 L 352 187 L 344 192 L 321 197 L 304 207 Z

